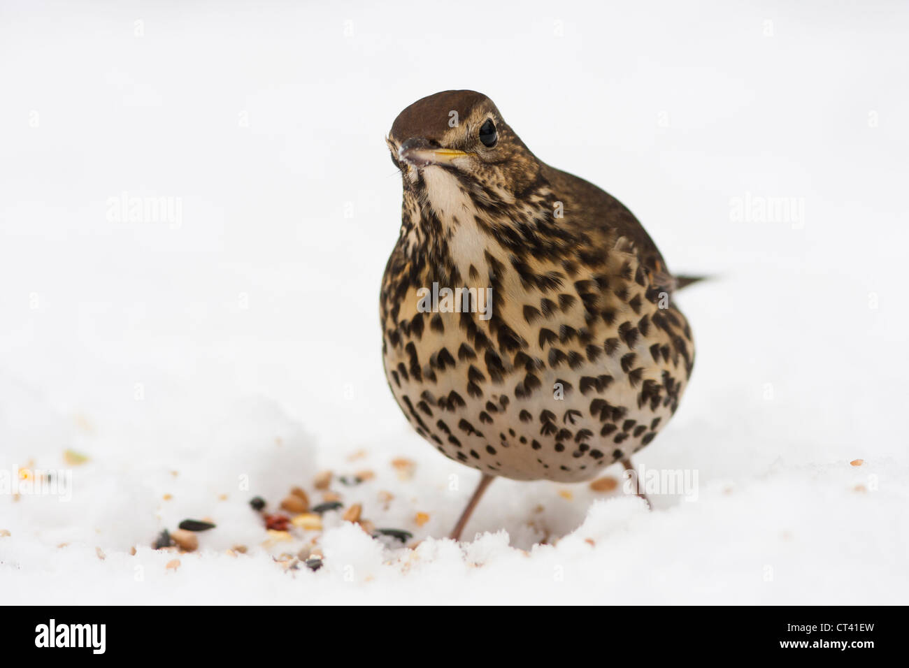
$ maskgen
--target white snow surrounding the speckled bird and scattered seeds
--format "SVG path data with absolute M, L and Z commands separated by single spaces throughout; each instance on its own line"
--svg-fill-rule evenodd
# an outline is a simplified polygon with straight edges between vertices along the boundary
M 0 598 L 906 603 L 907 29 L 896 3 L 0 5 Z M 476 473 L 394 404 L 377 294 L 383 137 L 448 88 L 715 277 L 637 458 L 689 498 L 499 480 L 474 542 L 439 538 Z M 13 494 L 37 469 L 71 484 Z M 325 470 L 414 538 L 343 510 L 266 533 L 249 499 L 319 503 Z M 205 517 L 195 553 L 152 549 Z M 314 539 L 324 566 L 285 568 Z

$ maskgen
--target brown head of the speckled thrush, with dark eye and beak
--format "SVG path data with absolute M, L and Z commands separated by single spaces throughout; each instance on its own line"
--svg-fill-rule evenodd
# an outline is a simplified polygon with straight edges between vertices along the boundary
M 405 108 L 386 139 L 405 193 L 445 202 L 460 189 L 487 203 L 514 202 L 537 180 L 540 163 L 493 101 L 444 91 Z

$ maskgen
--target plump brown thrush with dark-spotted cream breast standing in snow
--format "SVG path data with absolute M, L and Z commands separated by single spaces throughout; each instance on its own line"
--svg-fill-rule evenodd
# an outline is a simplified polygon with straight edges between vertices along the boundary
M 537 158 L 486 95 L 417 100 L 385 142 L 404 193 L 385 376 L 417 434 L 481 474 L 450 537 L 496 477 L 634 472 L 694 367 L 674 293 L 697 279 L 669 272 L 624 204 Z

